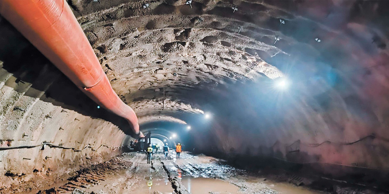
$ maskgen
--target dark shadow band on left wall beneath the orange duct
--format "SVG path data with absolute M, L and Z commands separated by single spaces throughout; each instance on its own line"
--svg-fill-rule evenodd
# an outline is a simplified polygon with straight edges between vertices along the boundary
M 98 109 L 93 100 L 1 16 L 0 35 L 0 61 L 3 62 L 0 81 L 4 81 L 5 85 L 14 88 L 16 92 L 25 92 L 26 96 L 39 98 L 93 119 L 109 121 L 125 134 L 134 135 L 124 118 L 106 109 Z M 10 73 L 15 80 L 9 78 Z

